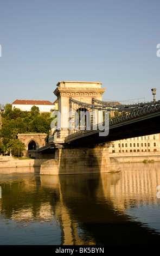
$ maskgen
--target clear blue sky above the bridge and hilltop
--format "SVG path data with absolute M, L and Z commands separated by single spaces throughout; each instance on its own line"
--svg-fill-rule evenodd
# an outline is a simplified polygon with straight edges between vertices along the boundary
M 160 99 L 159 0 L 1 0 L 0 103 L 54 101 L 59 81 L 102 82 L 104 99 Z

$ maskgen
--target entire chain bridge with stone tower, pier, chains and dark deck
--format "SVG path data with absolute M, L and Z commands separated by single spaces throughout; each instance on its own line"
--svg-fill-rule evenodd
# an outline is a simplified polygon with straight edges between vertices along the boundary
M 57 83 L 52 134 L 38 152 L 47 154 L 41 174 L 118 172 L 113 141 L 159 133 L 160 101 L 123 105 L 102 100 L 99 82 Z

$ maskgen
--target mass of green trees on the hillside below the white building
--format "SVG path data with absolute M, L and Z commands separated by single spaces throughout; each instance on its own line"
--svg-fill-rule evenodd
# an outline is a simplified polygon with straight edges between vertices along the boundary
M 40 114 L 37 106 L 33 106 L 31 111 L 21 111 L 19 108 L 12 110 L 12 105 L 6 104 L 5 112 L 2 113 L 0 137 L 6 147 L 10 140 L 17 139 L 18 133 L 39 132 L 49 136 L 51 121 L 50 113 Z

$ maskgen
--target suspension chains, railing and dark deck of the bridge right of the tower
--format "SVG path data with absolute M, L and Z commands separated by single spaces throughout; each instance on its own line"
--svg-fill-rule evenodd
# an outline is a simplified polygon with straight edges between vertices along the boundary
M 94 99 L 93 99 L 94 101 Z M 96 101 L 96 100 L 95 100 Z M 97 101 L 99 105 L 90 105 L 84 102 L 78 102 L 71 99 L 71 102 L 78 104 L 81 109 L 98 109 L 110 114 L 107 122 L 85 127 L 85 129 L 74 130 L 74 132 L 65 138 L 65 143 L 103 143 L 119 139 L 126 139 L 144 135 L 159 133 L 160 131 L 160 101 L 147 103 L 138 103 L 134 105 L 118 105 L 104 101 Z M 117 115 L 117 116 L 116 116 Z M 108 135 L 103 136 L 103 131 L 108 129 Z M 101 132 L 101 136 L 99 136 Z

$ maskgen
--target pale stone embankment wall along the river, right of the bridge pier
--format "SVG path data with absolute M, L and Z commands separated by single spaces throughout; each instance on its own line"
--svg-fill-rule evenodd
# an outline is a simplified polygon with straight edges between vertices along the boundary
M 120 163 L 160 162 L 160 152 L 111 153 L 110 159 L 112 158 Z

